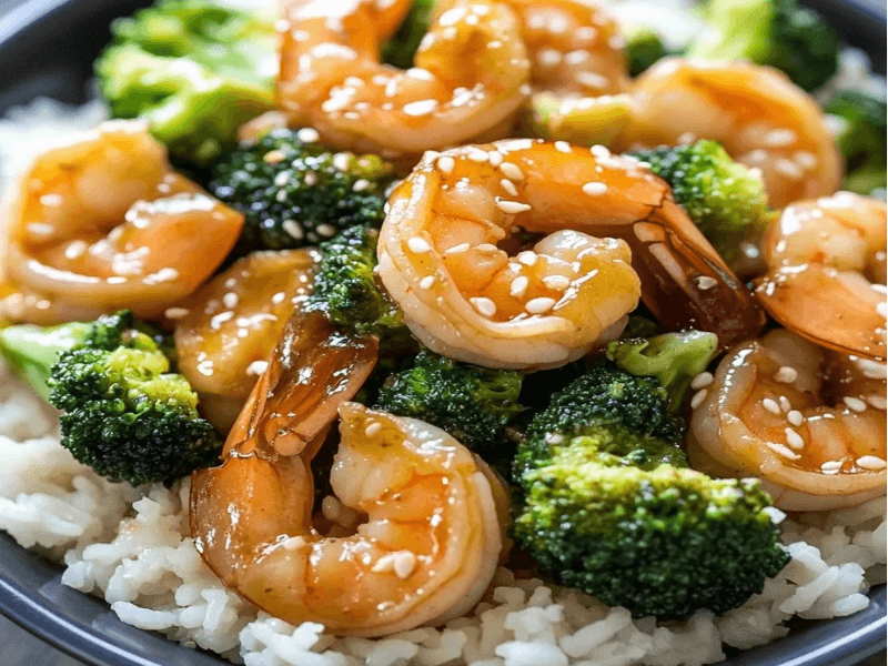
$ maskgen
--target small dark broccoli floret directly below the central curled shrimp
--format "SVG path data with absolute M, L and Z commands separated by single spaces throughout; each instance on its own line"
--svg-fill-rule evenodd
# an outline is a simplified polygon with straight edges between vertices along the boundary
M 431 423 L 495 460 L 504 457 L 507 446 L 503 428 L 522 411 L 517 403 L 522 380 L 519 372 L 422 352 L 412 367 L 389 376 L 375 408 Z

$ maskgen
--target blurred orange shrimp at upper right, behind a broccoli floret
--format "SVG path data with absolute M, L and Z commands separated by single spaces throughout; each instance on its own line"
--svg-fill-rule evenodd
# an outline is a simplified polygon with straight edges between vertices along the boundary
M 835 192 L 842 161 L 817 103 L 776 69 L 665 58 L 636 79 L 616 149 L 715 139 L 761 170 L 770 202 Z

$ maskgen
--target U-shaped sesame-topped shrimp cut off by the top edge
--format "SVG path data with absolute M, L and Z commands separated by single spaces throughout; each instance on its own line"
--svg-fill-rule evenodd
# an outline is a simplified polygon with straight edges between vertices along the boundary
M 508 121 L 529 92 L 515 13 L 501 2 L 453 0 L 402 71 L 380 47 L 408 0 L 294 0 L 286 7 L 278 85 L 291 125 L 339 149 L 420 154 Z

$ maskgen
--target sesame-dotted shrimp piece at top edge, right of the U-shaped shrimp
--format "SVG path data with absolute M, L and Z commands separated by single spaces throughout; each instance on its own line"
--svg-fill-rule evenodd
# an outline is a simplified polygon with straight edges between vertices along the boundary
M 531 87 L 562 98 L 628 88 L 619 26 L 601 4 L 579 0 L 504 0 L 521 20 Z

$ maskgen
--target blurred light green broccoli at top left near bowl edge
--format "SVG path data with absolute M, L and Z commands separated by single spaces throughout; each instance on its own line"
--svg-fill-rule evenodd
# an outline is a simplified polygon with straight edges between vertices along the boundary
M 143 118 L 173 157 L 203 165 L 274 108 L 271 21 L 210 0 L 165 0 L 119 19 L 95 61 L 114 118 Z

